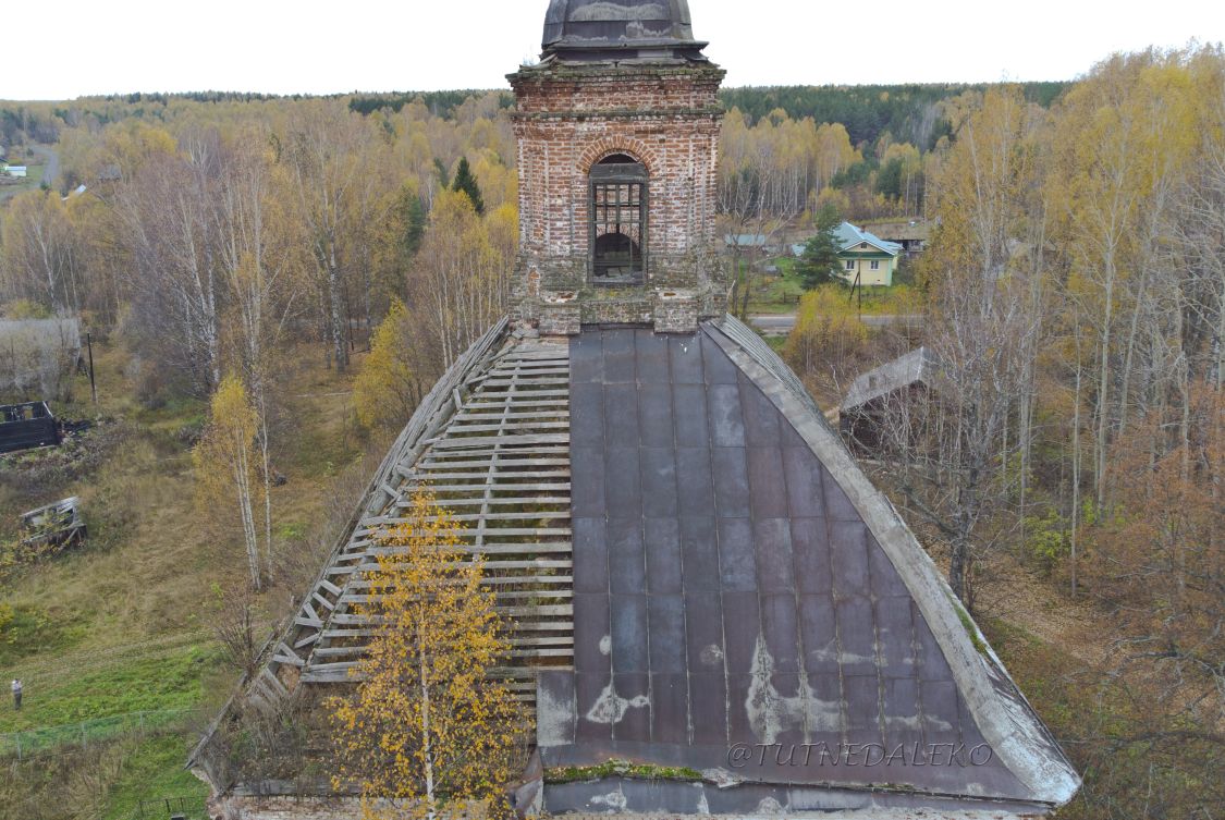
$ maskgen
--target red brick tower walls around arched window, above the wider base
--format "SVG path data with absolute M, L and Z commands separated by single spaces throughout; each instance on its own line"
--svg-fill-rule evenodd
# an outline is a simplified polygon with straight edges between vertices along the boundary
M 523 250 L 586 257 L 587 174 L 611 153 L 650 174 L 648 257 L 712 243 L 722 76 L 713 66 L 513 75 Z

